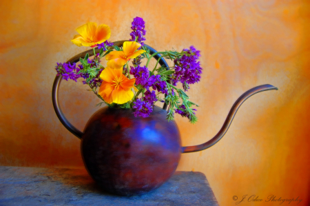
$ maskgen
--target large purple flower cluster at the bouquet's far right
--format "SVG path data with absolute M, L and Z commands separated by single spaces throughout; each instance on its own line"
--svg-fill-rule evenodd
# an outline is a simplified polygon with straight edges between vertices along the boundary
M 200 74 L 203 68 L 200 67 L 200 62 L 197 61 L 200 57 L 200 51 L 194 46 L 183 50 L 184 54 L 179 59 L 174 60 L 175 72 L 172 74 L 174 85 L 180 81 L 183 83 L 185 91 L 189 89 L 188 84 L 193 84 L 200 81 Z

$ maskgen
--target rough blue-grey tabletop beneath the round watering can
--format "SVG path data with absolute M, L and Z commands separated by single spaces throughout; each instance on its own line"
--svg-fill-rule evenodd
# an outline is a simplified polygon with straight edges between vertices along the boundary
M 103 192 L 85 169 L 0 167 L 0 205 L 218 205 L 205 175 L 175 172 L 154 192 Z

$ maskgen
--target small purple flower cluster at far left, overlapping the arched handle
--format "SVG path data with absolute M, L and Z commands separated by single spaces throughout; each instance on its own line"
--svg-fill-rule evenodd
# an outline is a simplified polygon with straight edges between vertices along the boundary
M 76 65 L 75 63 L 57 63 L 56 65 L 57 76 L 63 76 L 63 79 L 68 81 L 68 79 L 72 79 L 76 81 L 81 77 L 80 74 L 76 74 Z

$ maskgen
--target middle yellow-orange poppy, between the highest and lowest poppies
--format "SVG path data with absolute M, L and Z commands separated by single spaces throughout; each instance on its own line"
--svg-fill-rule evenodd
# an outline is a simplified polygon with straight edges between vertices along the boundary
M 139 47 L 141 47 L 141 44 L 136 41 L 125 41 L 123 43 L 123 51 L 112 51 L 105 56 L 107 66 L 110 68 L 122 67 L 130 59 L 134 59 L 145 52 L 145 50 L 136 51 Z

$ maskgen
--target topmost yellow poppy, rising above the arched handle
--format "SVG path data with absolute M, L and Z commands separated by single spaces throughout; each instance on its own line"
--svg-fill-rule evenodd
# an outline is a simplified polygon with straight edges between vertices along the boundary
M 111 30 L 109 26 L 105 24 L 99 25 L 94 22 L 85 23 L 76 29 L 76 34 L 71 40 L 75 45 L 78 46 L 96 46 L 99 43 L 103 43 L 111 36 Z

